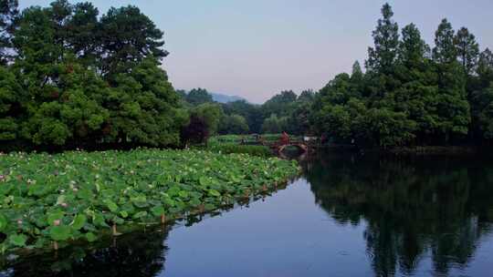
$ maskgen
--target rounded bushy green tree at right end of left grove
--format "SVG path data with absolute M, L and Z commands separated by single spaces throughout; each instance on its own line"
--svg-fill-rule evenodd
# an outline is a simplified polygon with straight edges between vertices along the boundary
M 110 110 L 107 139 L 151 146 L 177 145 L 186 118 L 166 72 L 152 56 L 131 74 L 114 77 L 115 88 L 105 101 Z

